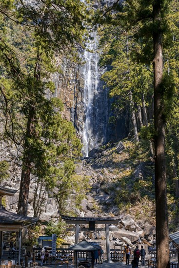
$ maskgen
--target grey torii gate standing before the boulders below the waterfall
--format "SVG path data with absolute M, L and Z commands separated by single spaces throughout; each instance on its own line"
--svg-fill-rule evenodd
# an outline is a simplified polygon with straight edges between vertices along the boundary
M 89 224 L 89 231 L 95 231 L 96 224 L 105 224 L 105 232 L 106 232 L 106 255 L 107 262 L 111 262 L 110 255 L 110 241 L 109 241 L 109 224 L 118 224 L 121 220 L 121 217 L 101 217 L 101 218 L 89 218 L 89 217 L 70 217 L 61 215 L 61 218 L 69 224 L 75 224 L 75 244 L 79 242 L 79 230 L 80 224 Z M 84 229 L 83 229 L 84 230 Z

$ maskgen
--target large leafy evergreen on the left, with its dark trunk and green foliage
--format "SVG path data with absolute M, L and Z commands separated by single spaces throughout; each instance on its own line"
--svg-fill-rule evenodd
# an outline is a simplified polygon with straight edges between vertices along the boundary
M 57 180 L 68 180 L 74 170 L 69 158 L 80 153 L 72 124 L 61 117 L 60 101 L 46 93 L 54 90 L 50 82 L 50 74 L 57 71 L 54 55 L 72 55 L 82 38 L 84 4 L 79 0 L 11 4 L 10 9 L 10 1 L 4 0 L 0 10 L 0 91 L 6 133 L 21 154 L 18 213 L 26 215 L 31 175 L 52 189 Z

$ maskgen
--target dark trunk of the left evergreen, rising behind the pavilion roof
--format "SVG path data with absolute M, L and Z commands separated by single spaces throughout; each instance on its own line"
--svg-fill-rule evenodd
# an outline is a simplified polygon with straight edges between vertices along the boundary
M 18 202 L 18 214 L 27 215 L 28 208 L 28 197 L 29 197 L 29 187 L 30 187 L 30 174 L 31 174 L 31 156 L 30 150 L 28 150 L 27 139 L 32 135 L 32 122 L 33 122 L 33 111 L 31 110 L 28 115 L 27 128 L 26 128 L 26 141 L 24 144 L 24 157 L 22 160 L 22 172 L 20 179 L 20 193 Z

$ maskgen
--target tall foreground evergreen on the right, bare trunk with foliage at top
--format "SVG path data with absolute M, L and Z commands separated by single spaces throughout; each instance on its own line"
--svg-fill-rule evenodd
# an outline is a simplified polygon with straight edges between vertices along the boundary
M 108 23 L 118 25 L 125 31 L 134 31 L 140 45 L 134 47 L 134 58 L 140 62 L 151 60 L 154 73 L 154 125 L 155 125 L 155 188 L 156 188 L 156 231 L 157 267 L 169 267 L 168 214 L 166 193 L 165 125 L 167 96 L 173 94 L 171 76 L 163 72 L 163 46 L 167 45 L 170 34 L 167 23 L 169 0 L 125 0 L 117 1 L 104 13 Z M 115 15 L 113 15 L 115 14 Z M 103 16 L 104 17 L 104 16 Z M 102 18 L 103 18 L 102 17 Z M 103 20 L 103 19 L 102 19 Z M 170 97 L 171 99 L 171 97 Z M 168 111 L 168 110 L 167 110 Z

